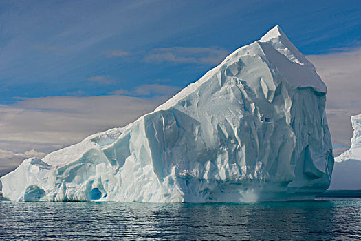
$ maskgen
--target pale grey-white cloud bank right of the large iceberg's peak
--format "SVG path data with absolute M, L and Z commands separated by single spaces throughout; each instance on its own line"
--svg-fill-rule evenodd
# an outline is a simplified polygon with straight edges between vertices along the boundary
M 361 48 L 307 56 L 327 85 L 326 112 L 333 144 L 350 145 L 350 117 L 361 113 Z M 340 151 L 338 151 L 340 152 Z

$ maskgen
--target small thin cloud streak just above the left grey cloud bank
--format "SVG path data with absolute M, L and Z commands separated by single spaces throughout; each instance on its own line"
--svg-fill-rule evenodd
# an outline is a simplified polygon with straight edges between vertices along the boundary
M 171 85 L 158 85 L 158 84 L 150 84 L 150 85 L 140 85 L 136 87 L 134 90 L 116 90 L 111 92 L 111 94 L 120 94 L 127 96 L 172 96 L 173 94 L 179 92 L 181 87 L 171 86 Z

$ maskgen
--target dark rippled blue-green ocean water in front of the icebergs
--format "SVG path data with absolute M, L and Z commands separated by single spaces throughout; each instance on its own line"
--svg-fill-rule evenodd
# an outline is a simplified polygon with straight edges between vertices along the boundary
M 0 202 L 0 240 L 361 240 L 361 198 L 241 204 Z

